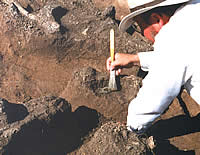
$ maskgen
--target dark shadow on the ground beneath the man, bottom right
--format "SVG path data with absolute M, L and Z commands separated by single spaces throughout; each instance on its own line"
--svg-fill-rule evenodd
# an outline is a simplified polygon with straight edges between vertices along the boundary
M 156 154 L 195 155 L 194 150 L 178 150 L 167 140 L 195 132 L 200 132 L 200 114 L 195 117 L 179 115 L 167 120 L 159 120 L 151 127 L 149 134 L 157 141 Z

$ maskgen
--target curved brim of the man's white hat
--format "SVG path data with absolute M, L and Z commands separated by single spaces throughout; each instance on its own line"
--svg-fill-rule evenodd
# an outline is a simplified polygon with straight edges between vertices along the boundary
M 137 16 L 137 15 L 140 15 L 140 14 L 142 14 L 142 13 L 144 13 L 144 12 L 147 12 L 147 11 L 149 11 L 149 10 L 151 10 L 151 9 L 154 9 L 154 8 L 156 8 L 156 7 L 161 7 L 161 6 L 169 6 L 169 5 L 174 5 L 174 4 L 180 4 L 180 3 L 184 3 L 184 2 L 188 2 L 189 0 L 179 0 L 178 2 L 177 2 L 177 0 L 171 0 L 170 2 L 169 1 L 164 1 L 164 2 L 162 2 L 162 3 L 159 3 L 159 4 L 157 4 L 157 5 L 154 5 L 154 6 L 150 6 L 150 7 L 145 7 L 145 8 L 141 8 L 141 9 L 139 9 L 139 10 L 136 10 L 136 11 L 134 11 L 134 12 L 132 12 L 132 13 L 130 13 L 130 14 L 128 14 L 127 16 L 125 16 L 122 20 L 121 20 L 121 22 L 120 22 L 120 24 L 119 24 L 119 30 L 120 31 L 126 31 L 130 26 L 131 26 L 131 24 L 132 24 L 132 18 L 133 17 L 135 17 L 135 16 Z

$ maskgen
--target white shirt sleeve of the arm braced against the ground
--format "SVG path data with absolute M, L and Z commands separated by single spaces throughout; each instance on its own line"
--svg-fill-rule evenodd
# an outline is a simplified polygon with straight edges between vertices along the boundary
M 156 55 L 137 97 L 129 104 L 128 129 L 146 130 L 170 105 L 183 83 L 186 71 L 183 64 L 169 55 Z

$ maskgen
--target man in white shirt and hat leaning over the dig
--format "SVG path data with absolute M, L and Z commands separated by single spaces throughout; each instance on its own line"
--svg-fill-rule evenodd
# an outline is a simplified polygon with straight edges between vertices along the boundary
M 166 110 L 183 85 L 200 104 L 200 0 L 128 0 L 127 5 L 132 12 L 122 19 L 119 29 L 125 31 L 132 20 L 137 21 L 142 34 L 155 41 L 154 51 L 116 53 L 112 64 L 107 59 L 107 70 L 115 69 L 120 74 L 123 68 L 140 65 L 148 71 L 127 116 L 128 129 L 142 133 Z

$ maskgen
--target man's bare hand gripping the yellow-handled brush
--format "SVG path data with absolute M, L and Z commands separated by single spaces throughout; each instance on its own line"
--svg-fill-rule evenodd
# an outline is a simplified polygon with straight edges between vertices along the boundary
M 140 65 L 140 60 L 137 54 L 116 53 L 113 63 L 111 63 L 111 57 L 106 61 L 107 70 L 116 70 L 117 75 L 122 72 L 123 68 L 131 68 L 134 65 Z

